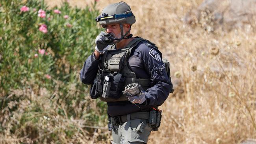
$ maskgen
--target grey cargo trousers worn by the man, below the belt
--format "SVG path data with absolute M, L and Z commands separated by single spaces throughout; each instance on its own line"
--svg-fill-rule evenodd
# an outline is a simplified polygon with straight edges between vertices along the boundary
M 129 117 L 130 114 L 127 115 Z M 112 144 L 147 144 L 152 127 L 145 119 L 134 119 L 122 125 L 112 125 Z

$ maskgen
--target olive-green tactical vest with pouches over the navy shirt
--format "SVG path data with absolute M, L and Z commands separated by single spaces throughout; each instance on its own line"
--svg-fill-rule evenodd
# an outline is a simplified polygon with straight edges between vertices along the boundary
M 150 79 L 136 78 L 135 73 L 130 70 L 127 64 L 132 49 L 139 42 L 143 42 L 148 47 L 156 49 L 162 58 L 157 46 L 141 37 L 135 37 L 126 47 L 118 50 L 115 48 L 115 44 L 111 45 L 101 56 L 98 74 L 90 90 L 92 98 L 100 97 L 100 100 L 104 102 L 126 101 L 128 98 L 122 94 L 122 90 L 124 90 L 126 85 L 138 83 L 144 90 L 152 87 L 150 86 Z M 164 62 L 169 65 L 169 61 Z

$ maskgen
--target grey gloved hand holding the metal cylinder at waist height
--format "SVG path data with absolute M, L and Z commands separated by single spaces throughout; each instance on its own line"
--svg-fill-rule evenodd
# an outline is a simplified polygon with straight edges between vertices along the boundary
M 133 96 L 132 94 L 130 94 L 126 90 L 124 90 L 122 92 L 123 92 L 124 95 L 126 95 L 126 97 L 128 98 L 128 100 L 130 102 L 141 104 L 141 103 L 146 101 L 146 97 L 145 97 L 145 90 L 143 90 L 141 85 L 139 85 L 139 89 L 141 90 L 141 92 L 139 93 L 139 96 Z

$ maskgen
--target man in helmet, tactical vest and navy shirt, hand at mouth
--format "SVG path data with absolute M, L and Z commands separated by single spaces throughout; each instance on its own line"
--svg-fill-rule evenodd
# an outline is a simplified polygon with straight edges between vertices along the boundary
M 95 51 L 80 72 L 82 83 L 91 84 L 91 98 L 107 102 L 112 144 L 147 143 L 160 126 L 161 105 L 173 91 L 168 61 L 157 46 L 130 33 L 135 16 L 125 2 L 110 4 L 95 18 L 106 32 L 95 40 Z M 137 85 L 134 94 L 125 89 Z

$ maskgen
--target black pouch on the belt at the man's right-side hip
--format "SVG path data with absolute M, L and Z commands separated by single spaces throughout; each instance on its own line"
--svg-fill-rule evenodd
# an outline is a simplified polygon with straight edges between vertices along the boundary
M 152 131 L 157 131 L 161 124 L 162 111 L 160 109 L 152 108 L 149 111 L 148 123 L 152 126 Z

